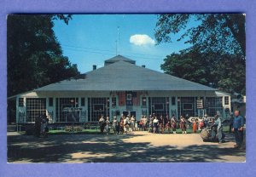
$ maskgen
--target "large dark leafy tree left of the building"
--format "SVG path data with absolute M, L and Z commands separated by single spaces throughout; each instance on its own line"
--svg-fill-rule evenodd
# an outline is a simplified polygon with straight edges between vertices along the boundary
M 76 65 L 62 55 L 53 31 L 53 20 L 71 15 L 11 14 L 7 21 L 8 95 L 55 83 L 79 74 Z

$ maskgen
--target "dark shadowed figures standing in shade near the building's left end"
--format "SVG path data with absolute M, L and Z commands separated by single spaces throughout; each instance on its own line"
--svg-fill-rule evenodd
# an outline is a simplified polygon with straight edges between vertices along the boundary
M 35 120 L 35 135 L 37 137 L 47 137 L 49 132 L 49 118 L 46 114 L 40 114 Z

